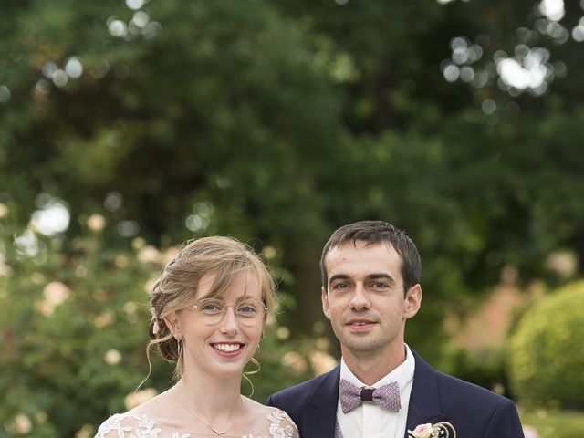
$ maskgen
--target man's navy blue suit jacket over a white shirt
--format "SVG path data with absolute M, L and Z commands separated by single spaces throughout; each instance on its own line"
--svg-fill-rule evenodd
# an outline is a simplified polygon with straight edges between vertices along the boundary
M 416 366 L 405 438 L 408 429 L 426 422 L 451 422 L 457 438 L 524 438 L 513 401 L 436 371 L 415 351 L 412 353 Z M 276 392 L 267 404 L 286 411 L 296 422 L 301 438 L 334 438 L 339 378 L 337 367 Z

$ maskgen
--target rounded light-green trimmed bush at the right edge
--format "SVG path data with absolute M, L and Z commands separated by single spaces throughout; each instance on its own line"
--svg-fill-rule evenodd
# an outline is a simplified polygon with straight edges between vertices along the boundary
M 531 406 L 584 408 L 584 281 L 527 310 L 509 344 L 509 379 Z

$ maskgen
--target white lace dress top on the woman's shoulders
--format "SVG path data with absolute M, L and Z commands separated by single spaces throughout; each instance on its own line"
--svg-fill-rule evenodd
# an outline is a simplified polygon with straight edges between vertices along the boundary
M 274 409 L 267 415 L 267 426 L 259 433 L 245 435 L 225 434 L 226 437 L 241 438 L 299 438 L 296 424 L 284 411 Z M 204 433 L 181 433 L 167 431 L 145 414 L 116 413 L 103 422 L 95 438 L 197 438 L 200 436 L 218 436 Z

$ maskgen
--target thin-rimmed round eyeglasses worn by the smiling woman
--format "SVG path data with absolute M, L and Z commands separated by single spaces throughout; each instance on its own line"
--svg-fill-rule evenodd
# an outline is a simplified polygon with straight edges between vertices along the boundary
M 253 326 L 264 319 L 267 308 L 259 299 L 245 299 L 234 304 L 225 304 L 217 298 L 203 298 L 191 306 L 204 323 L 213 326 L 219 324 L 227 312 L 227 308 L 233 308 L 235 318 L 239 324 Z

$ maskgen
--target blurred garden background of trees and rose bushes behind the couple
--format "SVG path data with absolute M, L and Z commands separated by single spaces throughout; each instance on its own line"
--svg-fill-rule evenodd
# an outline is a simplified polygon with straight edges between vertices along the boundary
M 320 250 L 363 219 L 421 252 L 414 349 L 582 436 L 584 1 L 2 11 L 0 437 L 90 437 L 172 384 L 153 360 L 136 391 L 148 290 L 197 236 L 279 282 L 255 400 L 329 370 Z

